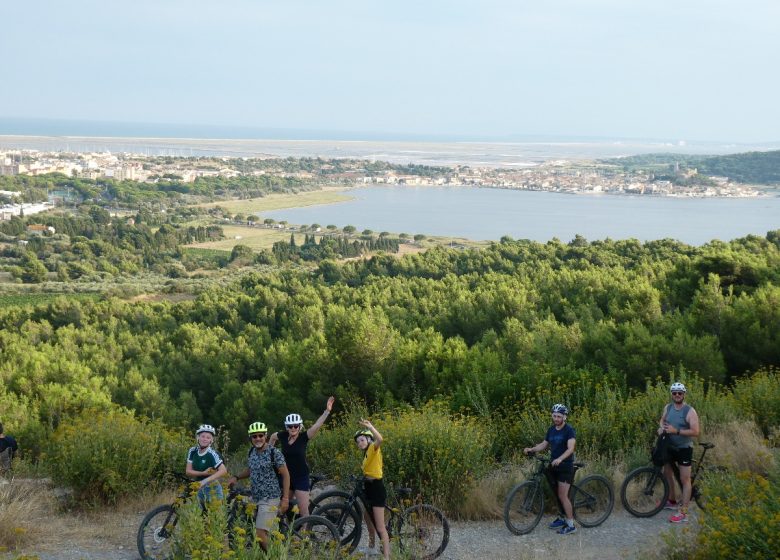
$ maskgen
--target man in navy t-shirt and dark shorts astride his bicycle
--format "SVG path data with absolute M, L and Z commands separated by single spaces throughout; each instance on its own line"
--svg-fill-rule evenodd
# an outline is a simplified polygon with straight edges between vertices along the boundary
M 565 519 L 559 516 L 550 523 L 550 529 L 558 529 L 559 535 L 568 535 L 577 530 L 574 526 L 574 510 L 569 500 L 569 488 L 574 482 L 574 446 L 576 434 L 574 428 L 566 423 L 569 409 L 565 405 L 555 404 L 552 408 L 553 425 L 547 430 L 544 441 L 534 447 L 526 447 L 523 452 L 537 453 L 550 448 L 550 468 L 547 480 L 556 489 L 558 505 Z

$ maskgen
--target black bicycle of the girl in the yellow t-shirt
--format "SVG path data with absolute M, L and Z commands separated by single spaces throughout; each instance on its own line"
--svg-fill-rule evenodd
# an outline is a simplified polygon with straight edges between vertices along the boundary
M 360 544 L 364 512 L 371 511 L 363 496 L 365 479 L 354 475 L 350 479 L 354 483 L 351 492 L 331 490 L 312 499 L 312 511 L 336 525 L 341 545 L 349 553 Z M 390 538 L 396 538 L 401 549 L 412 558 L 433 560 L 449 544 L 450 524 L 444 513 L 430 504 L 413 504 L 402 509 L 403 498 L 411 493 L 411 488 L 395 489 L 397 504 L 385 506 L 385 528 Z

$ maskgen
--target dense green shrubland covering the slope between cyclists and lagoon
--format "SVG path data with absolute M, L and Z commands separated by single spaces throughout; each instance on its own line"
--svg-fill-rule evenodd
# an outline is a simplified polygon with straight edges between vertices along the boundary
M 435 401 L 500 434 L 486 443 L 500 460 L 538 441 L 564 401 L 581 451 L 615 457 L 647 444 L 674 377 L 692 384 L 705 430 L 755 418 L 771 436 L 779 245 L 777 232 L 703 247 L 505 239 L 258 271 L 179 303 L 3 307 L 2 419 L 34 457 L 95 407 L 243 434 L 253 420 L 281 427 L 291 410 L 311 421 L 336 394 L 399 411 L 388 435 L 403 441 L 414 433 L 404 407 Z

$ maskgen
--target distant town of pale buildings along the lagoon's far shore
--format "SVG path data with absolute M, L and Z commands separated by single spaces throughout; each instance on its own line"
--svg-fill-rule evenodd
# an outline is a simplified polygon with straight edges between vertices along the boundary
M 59 173 L 79 179 L 184 183 L 207 177 L 274 176 L 301 183 L 362 186 L 458 186 L 547 191 L 581 195 L 665 197 L 756 197 L 755 186 L 728 177 L 702 176 L 695 168 L 674 166 L 659 176 L 618 165 L 557 161 L 518 169 L 467 166 L 393 165 L 359 159 L 229 158 L 144 156 L 129 153 L 72 153 L 36 150 L 0 151 L 0 176 Z M 0 191 L 2 217 L 34 214 L 58 201 L 22 204 L 19 193 Z M 56 197 L 55 197 L 56 198 Z

